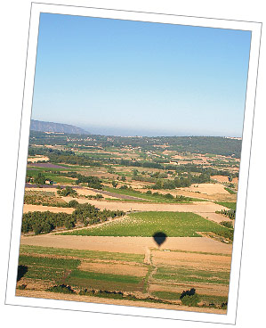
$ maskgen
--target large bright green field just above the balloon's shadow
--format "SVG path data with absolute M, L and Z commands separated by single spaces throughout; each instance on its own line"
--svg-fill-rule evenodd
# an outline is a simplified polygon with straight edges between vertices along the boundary
M 197 232 L 212 232 L 223 236 L 230 234 L 230 229 L 194 213 L 139 212 L 129 214 L 122 220 L 114 220 L 108 225 L 62 234 L 151 237 L 157 232 L 164 232 L 168 237 L 200 237 Z

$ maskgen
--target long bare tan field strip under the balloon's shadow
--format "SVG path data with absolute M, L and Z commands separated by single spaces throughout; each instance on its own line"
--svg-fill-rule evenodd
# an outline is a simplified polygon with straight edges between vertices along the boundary
M 104 237 L 40 234 L 21 236 L 21 245 L 55 247 L 76 250 L 100 250 L 132 254 L 145 254 L 147 248 L 157 249 L 157 243 L 151 237 Z M 231 254 L 232 245 L 214 241 L 207 237 L 168 237 L 162 250 L 182 250 Z M 167 252 L 165 252 L 167 253 Z M 170 252 L 172 253 L 172 252 Z

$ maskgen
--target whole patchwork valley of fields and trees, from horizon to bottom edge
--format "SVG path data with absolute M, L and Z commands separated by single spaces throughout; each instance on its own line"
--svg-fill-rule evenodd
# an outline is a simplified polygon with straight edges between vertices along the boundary
M 240 145 L 31 132 L 16 294 L 225 314 Z

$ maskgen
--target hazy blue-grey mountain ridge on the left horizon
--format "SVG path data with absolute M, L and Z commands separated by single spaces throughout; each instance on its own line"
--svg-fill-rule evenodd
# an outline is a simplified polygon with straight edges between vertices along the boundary
M 83 128 L 70 126 L 69 124 L 44 122 L 42 120 L 31 119 L 30 130 L 42 132 L 57 132 L 77 135 L 90 135 Z

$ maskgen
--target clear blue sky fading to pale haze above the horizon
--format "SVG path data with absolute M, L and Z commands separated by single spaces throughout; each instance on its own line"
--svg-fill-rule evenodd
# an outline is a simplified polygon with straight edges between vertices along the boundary
M 241 136 L 251 32 L 41 13 L 32 119 Z

